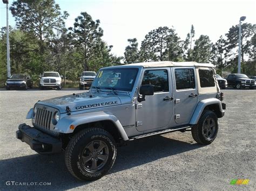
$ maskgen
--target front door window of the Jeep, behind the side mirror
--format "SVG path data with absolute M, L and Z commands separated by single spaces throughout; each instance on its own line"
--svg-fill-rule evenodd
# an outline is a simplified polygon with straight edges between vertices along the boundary
M 147 84 L 154 86 L 154 92 L 169 91 L 167 70 L 146 70 L 143 76 L 142 85 Z

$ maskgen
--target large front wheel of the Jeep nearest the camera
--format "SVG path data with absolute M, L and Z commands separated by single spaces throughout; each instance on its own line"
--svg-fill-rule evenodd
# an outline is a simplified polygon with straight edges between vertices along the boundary
M 70 140 L 65 152 L 65 163 L 77 179 L 97 180 L 110 171 L 116 154 L 116 143 L 109 132 L 87 128 Z

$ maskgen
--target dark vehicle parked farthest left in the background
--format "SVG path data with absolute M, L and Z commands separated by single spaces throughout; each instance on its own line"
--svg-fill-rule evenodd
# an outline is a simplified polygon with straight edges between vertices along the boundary
M 6 90 L 33 88 L 33 82 L 28 74 L 12 74 L 12 76 L 6 80 L 5 88 Z

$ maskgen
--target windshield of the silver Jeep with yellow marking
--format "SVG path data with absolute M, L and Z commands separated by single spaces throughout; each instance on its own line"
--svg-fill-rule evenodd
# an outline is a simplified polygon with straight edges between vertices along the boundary
M 112 68 L 99 70 L 92 87 L 131 91 L 136 80 L 138 68 Z

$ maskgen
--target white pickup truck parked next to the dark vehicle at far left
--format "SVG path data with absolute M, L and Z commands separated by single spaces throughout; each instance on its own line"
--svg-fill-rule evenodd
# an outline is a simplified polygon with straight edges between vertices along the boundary
M 44 72 L 41 75 L 39 82 L 39 88 L 57 88 L 62 89 L 62 75 L 59 75 L 58 72 Z

